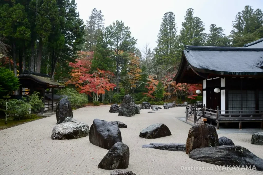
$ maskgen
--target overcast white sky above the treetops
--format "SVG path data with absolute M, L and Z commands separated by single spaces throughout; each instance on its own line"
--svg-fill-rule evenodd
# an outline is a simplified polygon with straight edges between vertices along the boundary
M 75 0 L 80 18 L 86 23 L 93 8 L 102 10 L 105 27 L 115 20 L 122 20 L 130 27 L 132 36 L 137 40 L 137 47 L 142 49 L 146 43 L 154 48 L 162 17 L 166 12 L 174 12 L 178 33 L 188 8 L 194 9 L 194 15 L 205 24 L 206 33 L 209 25 L 216 24 L 229 35 L 235 15 L 246 5 L 263 10 L 263 0 Z

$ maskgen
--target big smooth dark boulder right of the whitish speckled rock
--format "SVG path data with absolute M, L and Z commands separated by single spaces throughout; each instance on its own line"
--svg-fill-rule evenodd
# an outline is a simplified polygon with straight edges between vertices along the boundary
M 122 134 L 118 126 L 105 120 L 94 119 L 89 130 L 89 142 L 109 150 L 115 143 L 122 142 Z

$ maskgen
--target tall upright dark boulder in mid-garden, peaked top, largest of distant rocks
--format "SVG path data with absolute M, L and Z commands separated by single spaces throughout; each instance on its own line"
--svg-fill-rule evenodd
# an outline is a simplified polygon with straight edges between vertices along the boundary
M 119 115 L 127 117 L 135 115 L 135 103 L 130 95 L 124 96 L 122 106 L 119 109 Z

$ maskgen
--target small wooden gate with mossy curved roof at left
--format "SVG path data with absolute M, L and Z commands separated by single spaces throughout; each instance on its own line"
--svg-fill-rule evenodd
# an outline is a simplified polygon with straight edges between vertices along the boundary
M 54 89 L 55 88 L 64 88 L 65 85 L 56 82 L 54 79 L 50 78 L 48 75 L 31 72 L 31 71 L 24 71 L 22 74 L 18 76 L 19 82 L 20 82 L 20 95 L 22 93 L 28 93 L 28 91 L 22 91 L 22 88 L 28 88 L 29 94 L 32 94 L 34 91 L 37 91 L 40 93 L 40 97 L 43 97 L 43 103 L 45 105 L 49 105 L 45 103 L 45 99 L 47 96 L 51 98 L 51 111 L 54 111 Z M 46 90 L 51 90 L 51 96 L 45 95 L 49 92 L 46 92 Z M 44 112 L 44 108 L 42 109 L 42 114 Z

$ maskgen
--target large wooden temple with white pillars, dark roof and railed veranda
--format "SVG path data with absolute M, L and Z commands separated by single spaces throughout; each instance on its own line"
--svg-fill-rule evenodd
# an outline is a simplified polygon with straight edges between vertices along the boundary
M 263 127 L 263 39 L 244 47 L 185 46 L 176 83 L 203 84 L 200 118 L 217 123 L 261 122 Z M 262 45 L 262 46 L 261 46 Z M 256 47 L 257 46 L 257 47 Z M 201 89 L 200 89 L 201 90 Z

